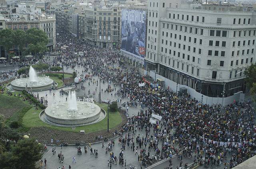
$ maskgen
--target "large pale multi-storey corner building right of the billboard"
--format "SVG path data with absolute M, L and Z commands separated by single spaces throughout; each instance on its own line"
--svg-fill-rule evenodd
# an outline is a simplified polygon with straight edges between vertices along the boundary
M 247 92 L 244 71 L 255 62 L 255 14 L 232 10 L 149 0 L 146 70 L 204 96 Z

